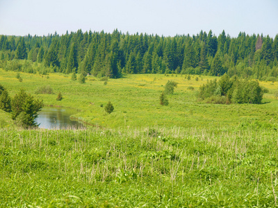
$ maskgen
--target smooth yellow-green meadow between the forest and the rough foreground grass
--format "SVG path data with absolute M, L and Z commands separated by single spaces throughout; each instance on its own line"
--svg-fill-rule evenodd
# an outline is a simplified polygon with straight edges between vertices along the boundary
M 213 77 L 164 76 L 161 74 L 136 74 L 119 79 L 109 79 L 108 84 L 97 78 L 88 77 L 85 84 L 72 81 L 71 75 L 50 73 L 47 76 L 21 73 L 20 83 L 15 72 L 0 71 L 0 83 L 14 96 L 20 88 L 34 94 L 38 87 L 49 85 L 55 94 L 38 94 L 45 105 L 61 105 L 81 110 L 73 117 L 107 128 L 166 126 L 197 127 L 238 125 L 241 122 L 259 120 L 276 122 L 278 101 L 275 99 L 277 83 L 261 83 L 270 89 L 265 94 L 263 105 L 211 105 L 197 101 L 196 93 L 200 85 Z M 168 96 L 169 105 L 159 104 L 159 96 L 167 80 L 174 80 L 178 87 Z M 194 87 L 194 90 L 188 87 Z M 63 94 L 62 101 L 56 101 L 58 92 Z M 108 101 L 115 110 L 106 114 L 104 107 Z

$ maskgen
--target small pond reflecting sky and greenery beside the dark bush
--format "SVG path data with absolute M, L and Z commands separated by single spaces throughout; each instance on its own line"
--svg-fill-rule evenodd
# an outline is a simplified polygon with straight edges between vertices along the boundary
M 83 128 L 83 123 L 70 120 L 76 113 L 76 110 L 63 107 L 43 107 L 35 122 L 40 124 L 39 128 L 46 129 Z

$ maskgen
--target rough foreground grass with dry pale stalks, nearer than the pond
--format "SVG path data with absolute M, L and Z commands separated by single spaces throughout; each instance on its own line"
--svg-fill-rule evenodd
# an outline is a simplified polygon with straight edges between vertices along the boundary
M 2 207 L 275 207 L 277 130 L 0 130 Z M 90 206 L 89 206 L 90 205 Z

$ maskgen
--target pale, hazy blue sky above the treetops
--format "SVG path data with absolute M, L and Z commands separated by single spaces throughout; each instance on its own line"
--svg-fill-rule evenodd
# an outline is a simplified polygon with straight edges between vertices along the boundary
M 278 33 L 278 0 L 0 0 L 0 35 Z

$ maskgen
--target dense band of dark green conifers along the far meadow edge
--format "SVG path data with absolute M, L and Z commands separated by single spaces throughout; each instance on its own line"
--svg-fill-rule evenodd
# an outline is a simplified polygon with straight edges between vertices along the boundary
M 0 36 L 0 68 L 26 73 L 83 73 L 118 78 L 125 73 L 187 73 L 276 80 L 278 35 L 230 37 L 104 33 Z

